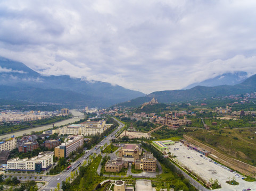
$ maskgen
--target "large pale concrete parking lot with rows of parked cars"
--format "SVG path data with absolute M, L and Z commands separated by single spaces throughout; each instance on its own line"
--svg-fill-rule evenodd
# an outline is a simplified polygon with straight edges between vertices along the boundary
M 191 150 L 181 143 L 175 143 L 174 145 L 168 146 L 168 152 L 177 156 L 177 158 L 173 159 L 177 160 L 181 166 L 187 167 L 207 182 L 210 179 L 218 179 L 222 188 L 217 190 L 243 190 L 247 188 L 256 190 L 255 182 L 247 182 L 243 180 L 243 176 L 239 173 L 232 171 L 221 164 L 214 163 L 214 161 L 204 155 L 200 157 L 200 155 L 202 155 L 201 153 Z M 240 185 L 233 186 L 226 183 L 227 180 L 233 180 L 233 178 L 235 178 Z

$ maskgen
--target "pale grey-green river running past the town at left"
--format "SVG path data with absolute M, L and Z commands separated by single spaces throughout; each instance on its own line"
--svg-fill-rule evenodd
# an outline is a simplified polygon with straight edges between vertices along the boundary
M 73 116 L 82 116 L 82 115 L 84 115 L 82 112 L 79 112 L 79 111 L 77 111 L 75 109 L 70 110 L 70 112 L 72 112 Z M 80 119 L 81 118 L 66 119 L 66 120 L 54 123 L 54 126 L 56 127 L 56 126 L 61 126 L 61 125 L 67 125 L 69 123 L 74 123 L 75 121 L 79 121 Z M 2 140 L 4 138 L 10 138 L 12 135 L 14 135 L 15 137 L 18 137 L 18 136 L 22 136 L 24 133 L 26 133 L 28 135 L 31 132 L 44 131 L 44 130 L 52 128 L 52 127 L 53 127 L 52 124 L 48 124 L 48 125 L 44 125 L 44 126 L 40 126 L 40 127 L 24 129 L 22 131 L 1 135 L 0 136 L 0 140 Z

